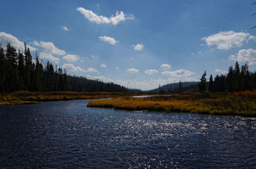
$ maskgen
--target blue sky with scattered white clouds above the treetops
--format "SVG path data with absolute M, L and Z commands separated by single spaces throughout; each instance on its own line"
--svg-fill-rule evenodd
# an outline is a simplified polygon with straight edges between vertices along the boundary
M 154 89 L 256 62 L 251 0 L 2 0 L 0 43 L 66 68 L 68 74 Z

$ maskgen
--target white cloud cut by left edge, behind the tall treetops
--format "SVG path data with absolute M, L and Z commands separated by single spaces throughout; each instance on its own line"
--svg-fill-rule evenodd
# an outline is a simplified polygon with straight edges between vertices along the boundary
M 15 36 L 12 36 L 12 34 L 1 32 L 0 43 L 2 44 L 3 48 L 6 48 L 7 43 L 10 43 L 10 45 L 17 50 L 25 50 L 24 43 L 22 41 L 19 41 Z M 27 47 L 31 52 L 38 50 L 37 48 L 31 47 L 29 45 L 27 45 Z

